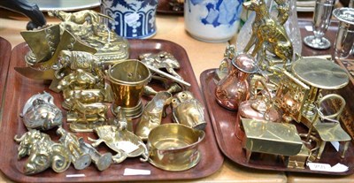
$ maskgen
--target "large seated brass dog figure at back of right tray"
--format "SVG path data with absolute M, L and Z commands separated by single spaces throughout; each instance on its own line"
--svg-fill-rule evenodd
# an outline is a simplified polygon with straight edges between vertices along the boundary
M 243 3 L 243 6 L 247 10 L 256 12 L 250 41 L 243 51 L 248 52 L 254 46 L 251 55 L 255 57 L 257 54 L 262 54 L 258 61 L 258 65 L 262 69 L 266 69 L 266 65 L 263 63 L 266 51 L 280 57 L 283 67 L 286 68 L 293 57 L 293 46 L 284 27 L 277 20 L 271 18 L 264 0 L 251 0 Z M 272 66 L 273 63 L 269 62 L 268 65 Z

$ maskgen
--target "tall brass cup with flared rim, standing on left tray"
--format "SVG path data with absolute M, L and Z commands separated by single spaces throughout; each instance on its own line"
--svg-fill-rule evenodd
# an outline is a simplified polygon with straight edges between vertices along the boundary
M 127 117 L 142 115 L 142 91 L 151 78 L 149 68 L 139 60 L 128 59 L 110 67 L 107 75 L 114 97 L 112 112 L 115 114 L 120 106 Z

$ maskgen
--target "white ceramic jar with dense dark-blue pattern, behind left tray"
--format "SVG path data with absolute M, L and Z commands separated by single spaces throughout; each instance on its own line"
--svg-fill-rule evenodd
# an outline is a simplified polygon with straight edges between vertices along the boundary
M 114 19 L 108 27 L 120 36 L 149 38 L 156 34 L 157 6 L 158 0 L 103 0 L 101 12 Z

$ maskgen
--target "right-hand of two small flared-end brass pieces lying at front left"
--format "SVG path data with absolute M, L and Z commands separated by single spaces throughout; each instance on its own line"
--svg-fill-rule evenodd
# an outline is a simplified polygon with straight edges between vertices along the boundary
M 104 171 L 112 164 L 112 154 L 110 152 L 101 154 L 89 143 L 83 141 L 83 138 L 79 138 L 80 149 L 84 154 L 89 154 L 91 160 L 96 164 L 96 168 L 99 171 Z

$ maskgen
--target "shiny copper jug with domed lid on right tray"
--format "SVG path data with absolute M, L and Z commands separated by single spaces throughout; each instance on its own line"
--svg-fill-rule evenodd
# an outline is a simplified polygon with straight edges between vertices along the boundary
M 254 57 L 241 53 L 232 60 L 231 71 L 227 77 L 220 80 L 215 89 L 216 101 L 227 110 L 236 111 L 242 101 L 250 96 L 248 78 L 251 73 L 257 72 Z

